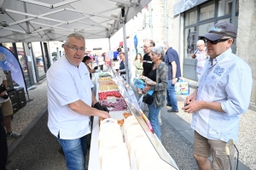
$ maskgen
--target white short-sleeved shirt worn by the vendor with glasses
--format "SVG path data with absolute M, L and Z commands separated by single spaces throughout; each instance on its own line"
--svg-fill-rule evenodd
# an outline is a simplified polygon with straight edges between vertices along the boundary
M 66 57 L 58 59 L 47 71 L 48 127 L 60 139 L 79 139 L 90 133 L 89 116 L 70 109 L 68 104 L 81 99 L 91 105 L 90 73 L 84 63 L 79 67 L 69 63 Z

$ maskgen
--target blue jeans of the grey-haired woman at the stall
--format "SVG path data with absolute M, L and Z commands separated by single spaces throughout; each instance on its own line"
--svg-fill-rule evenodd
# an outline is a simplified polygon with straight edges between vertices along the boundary
M 148 105 L 148 120 L 153 127 L 154 133 L 161 140 L 161 128 L 158 120 L 158 115 L 161 108 L 155 108 L 154 102 L 151 105 Z

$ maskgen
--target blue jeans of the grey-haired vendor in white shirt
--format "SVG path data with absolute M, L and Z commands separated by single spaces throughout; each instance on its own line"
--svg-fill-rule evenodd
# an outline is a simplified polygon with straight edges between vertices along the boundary
M 64 151 L 67 170 L 84 170 L 87 152 L 86 135 L 79 139 L 57 138 Z

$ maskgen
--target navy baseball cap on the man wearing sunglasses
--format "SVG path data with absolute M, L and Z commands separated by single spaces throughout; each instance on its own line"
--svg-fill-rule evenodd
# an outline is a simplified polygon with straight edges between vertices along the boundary
M 230 22 L 224 21 L 216 23 L 214 26 L 212 26 L 208 33 L 200 37 L 200 39 L 207 38 L 208 40 L 215 41 L 222 37 L 236 38 L 236 35 L 236 27 L 232 25 Z

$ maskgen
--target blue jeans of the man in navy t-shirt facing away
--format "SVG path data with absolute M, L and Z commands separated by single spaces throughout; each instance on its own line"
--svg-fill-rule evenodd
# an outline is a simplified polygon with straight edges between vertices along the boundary
M 167 87 L 167 104 L 172 105 L 172 109 L 177 111 L 177 99 L 175 94 L 175 87 L 172 84 L 172 80 L 168 80 L 168 87 Z

